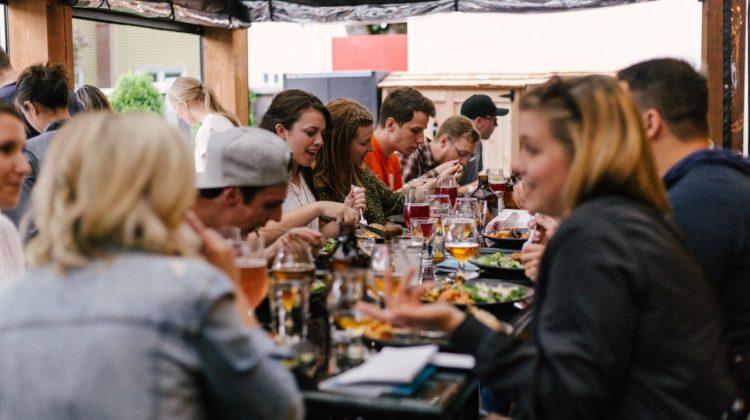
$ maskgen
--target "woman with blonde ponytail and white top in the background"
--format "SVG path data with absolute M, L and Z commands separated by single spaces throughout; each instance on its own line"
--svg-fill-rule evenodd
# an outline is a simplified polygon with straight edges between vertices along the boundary
M 239 127 L 240 120 L 224 109 L 213 89 L 194 77 L 175 79 L 167 96 L 181 120 L 191 126 L 201 124 L 195 133 L 195 170 L 203 172 L 208 139 L 212 134 Z

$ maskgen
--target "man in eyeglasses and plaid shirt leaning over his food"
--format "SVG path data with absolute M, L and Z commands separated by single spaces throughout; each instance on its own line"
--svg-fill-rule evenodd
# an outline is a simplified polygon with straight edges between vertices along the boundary
M 448 118 L 438 128 L 434 140 L 420 144 L 408 156 L 399 156 L 404 182 L 443 175 L 458 176 L 463 167 L 475 160 L 474 149 L 477 143 L 479 133 L 474 130 L 468 118 L 461 115 Z

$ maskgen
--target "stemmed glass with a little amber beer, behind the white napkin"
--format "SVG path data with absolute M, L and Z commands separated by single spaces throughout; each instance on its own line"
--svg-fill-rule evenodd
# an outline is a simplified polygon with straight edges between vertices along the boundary
M 335 361 L 341 368 L 353 367 L 362 362 L 365 348 L 362 333 L 372 319 L 357 309 L 357 302 L 365 296 L 367 270 L 337 271 L 328 292 L 328 314 L 331 317 L 331 338 Z

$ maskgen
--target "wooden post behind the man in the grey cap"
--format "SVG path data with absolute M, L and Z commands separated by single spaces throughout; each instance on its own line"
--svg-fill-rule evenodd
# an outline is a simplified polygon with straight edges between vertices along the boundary
M 203 36 L 204 81 L 216 92 L 219 102 L 247 125 L 247 30 L 206 28 Z

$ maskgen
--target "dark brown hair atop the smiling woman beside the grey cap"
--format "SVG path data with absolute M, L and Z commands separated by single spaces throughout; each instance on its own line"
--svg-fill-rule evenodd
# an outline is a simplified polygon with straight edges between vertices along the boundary
M 260 128 L 276 134 L 276 124 L 281 124 L 287 130 L 291 130 L 300 115 L 310 108 L 323 114 L 323 118 L 326 120 L 326 129 L 331 126 L 331 114 L 317 96 L 304 90 L 289 89 L 274 96 L 271 106 L 263 115 Z M 323 131 L 325 132 L 325 130 Z

